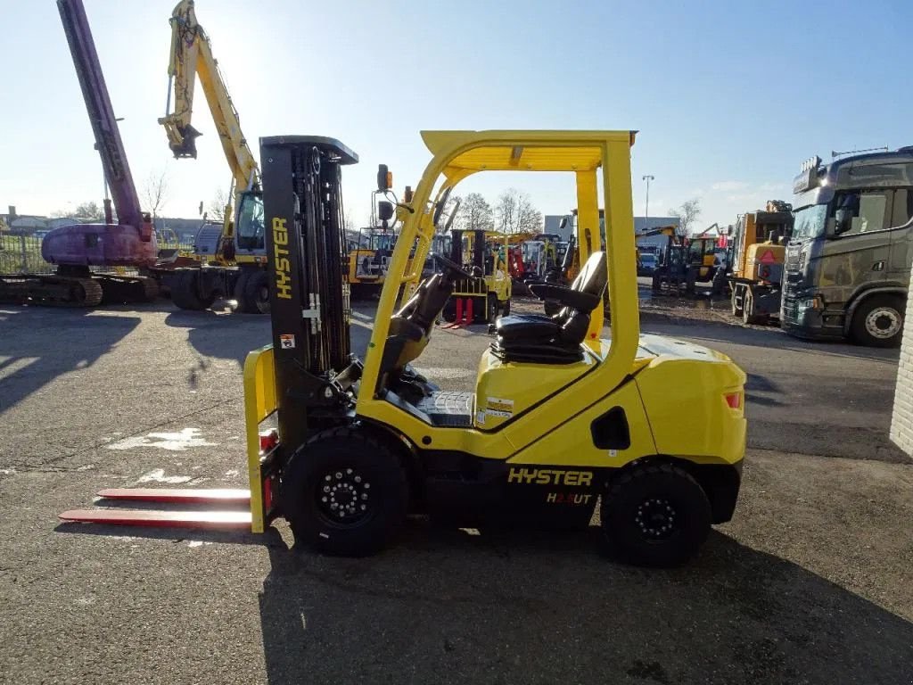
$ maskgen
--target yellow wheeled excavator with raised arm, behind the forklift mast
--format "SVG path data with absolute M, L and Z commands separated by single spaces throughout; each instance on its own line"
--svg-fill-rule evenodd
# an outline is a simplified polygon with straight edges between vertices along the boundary
M 203 310 L 221 296 L 237 300 L 238 311 L 268 313 L 263 196 L 257 158 L 241 132 L 237 110 L 213 57 L 209 37 L 196 20 L 194 0 L 181 0 L 175 5 L 170 23 L 168 100 L 159 123 L 175 158 L 196 158 L 196 138 L 201 133 L 191 120 L 195 81 L 199 78 L 231 169 L 233 198 L 225 208 L 222 224 L 207 223 L 197 234 L 194 254 L 201 264 L 177 270 L 171 285 L 172 300 L 182 309 Z

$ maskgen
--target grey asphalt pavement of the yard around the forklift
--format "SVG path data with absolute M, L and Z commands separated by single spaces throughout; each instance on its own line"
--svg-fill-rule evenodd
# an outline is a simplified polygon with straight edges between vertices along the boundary
M 352 326 L 362 348 L 369 306 Z M 0 682 L 896 683 L 913 673 L 913 468 L 896 351 L 650 321 L 749 374 L 733 522 L 672 571 L 595 529 L 410 521 L 371 559 L 267 535 L 61 524 L 104 487 L 244 487 L 241 364 L 262 317 L 0 308 Z M 471 388 L 486 332 L 421 368 Z

